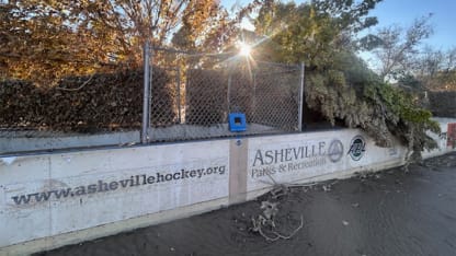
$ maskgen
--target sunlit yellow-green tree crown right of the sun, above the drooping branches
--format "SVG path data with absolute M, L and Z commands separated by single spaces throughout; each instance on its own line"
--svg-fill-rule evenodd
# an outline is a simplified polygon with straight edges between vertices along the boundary
M 314 0 L 300 5 L 265 1 L 255 27 L 271 40 L 260 46 L 261 51 L 270 51 L 274 60 L 322 68 L 335 53 L 354 47 L 353 34 L 377 23 L 366 15 L 379 1 Z

